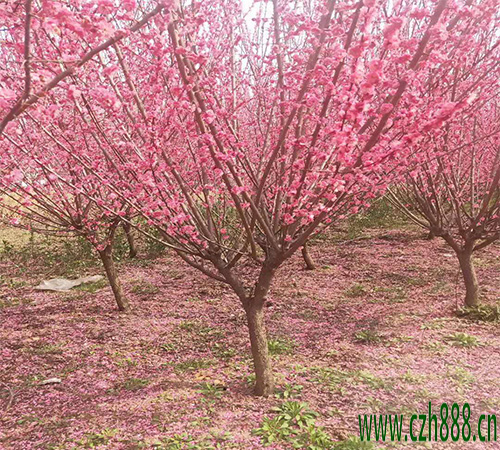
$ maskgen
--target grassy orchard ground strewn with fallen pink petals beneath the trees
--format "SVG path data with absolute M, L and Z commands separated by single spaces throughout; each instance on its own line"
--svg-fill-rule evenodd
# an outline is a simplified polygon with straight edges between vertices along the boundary
M 251 395 L 245 317 L 225 287 L 166 254 L 120 264 L 133 305 L 110 289 L 41 293 L 0 267 L 0 448 L 289 449 L 255 429 L 305 402 L 333 441 L 358 414 L 439 413 L 468 402 L 500 417 L 500 328 L 458 317 L 451 251 L 415 230 L 371 230 L 311 246 L 279 272 L 267 308 L 278 393 Z M 500 298 L 500 246 L 477 258 L 484 301 Z M 87 269 L 99 272 L 98 267 Z M 93 270 L 93 271 L 92 271 Z M 60 382 L 44 384 L 57 378 Z M 500 424 L 499 424 L 500 425 Z M 342 448 L 494 449 L 497 443 L 350 442 Z M 426 446 L 427 445 L 427 446 Z M 156 447 L 155 447 L 156 446 Z

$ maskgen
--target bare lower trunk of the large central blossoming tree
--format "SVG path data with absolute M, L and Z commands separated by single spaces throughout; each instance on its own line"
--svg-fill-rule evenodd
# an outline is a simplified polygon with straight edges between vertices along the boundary
M 255 367 L 255 395 L 268 397 L 274 392 L 274 377 L 267 346 L 263 305 L 254 302 L 246 309 L 250 343 Z

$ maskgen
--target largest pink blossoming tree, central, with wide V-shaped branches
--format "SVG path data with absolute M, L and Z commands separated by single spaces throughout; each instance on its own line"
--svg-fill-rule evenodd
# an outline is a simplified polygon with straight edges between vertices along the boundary
M 497 56 L 495 14 L 492 0 L 168 4 L 38 101 L 36 120 L 49 120 L 54 100 L 82 111 L 109 161 L 92 176 L 233 289 L 255 392 L 269 395 L 264 305 L 277 270 L 382 192 L 387 167 L 437 133 L 455 103 L 477 101 Z M 464 58 L 471 49 L 482 56 Z M 457 61 L 476 85 L 451 108 L 436 80 L 452 89 Z M 75 164 L 80 151 L 67 152 Z

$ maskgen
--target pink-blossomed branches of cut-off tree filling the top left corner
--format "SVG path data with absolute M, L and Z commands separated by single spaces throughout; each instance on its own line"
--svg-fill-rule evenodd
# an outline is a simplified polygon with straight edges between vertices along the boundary
M 22 7 L 24 6 L 24 8 Z M 141 30 L 160 2 L 3 2 L 0 5 L 0 134 L 96 56 Z M 149 11 L 148 11 L 149 10 Z

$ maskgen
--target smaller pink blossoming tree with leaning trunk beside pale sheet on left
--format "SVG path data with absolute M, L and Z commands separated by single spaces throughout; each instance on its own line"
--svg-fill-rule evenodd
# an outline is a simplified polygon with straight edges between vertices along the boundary
M 20 122 L 24 130 L 20 140 L 7 136 L 0 142 L 0 194 L 4 200 L 0 205 L 10 213 L 10 224 L 41 234 L 85 238 L 103 263 L 118 309 L 127 310 L 129 303 L 113 260 L 113 242 L 122 216 L 130 216 L 130 208 L 92 175 L 93 166 L 108 164 L 92 153 L 92 131 L 80 130 L 75 135 L 74 130 L 82 126 L 79 122 L 71 133 L 73 139 L 66 134 L 60 142 L 36 119 L 31 124 L 24 119 Z M 59 129 L 62 123 L 60 119 L 52 128 Z M 81 136 L 88 139 L 75 140 Z M 75 147 L 80 145 L 90 151 Z M 77 153 L 80 164 L 75 164 Z

